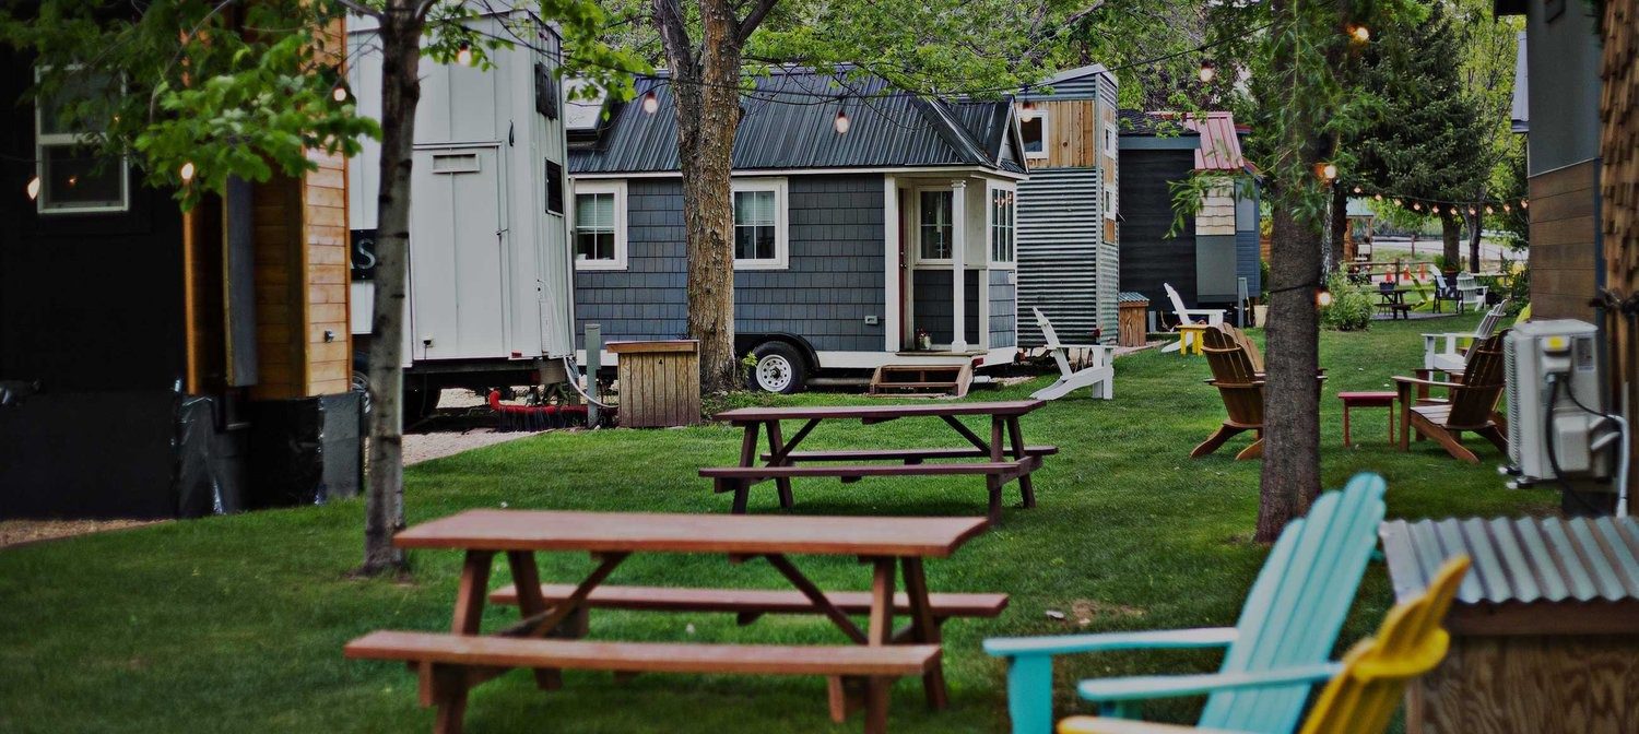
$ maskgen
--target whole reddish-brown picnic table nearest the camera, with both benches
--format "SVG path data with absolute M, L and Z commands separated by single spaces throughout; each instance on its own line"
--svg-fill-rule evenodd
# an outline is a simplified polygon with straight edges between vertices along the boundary
M 459 732 L 467 690 L 510 668 L 533 668 L 536 683 L 561 686 L 559 670 L 824 675 L 836 721 L 865 709 L 865 731 L 887 727 L 888 686 L 921 675 L 928 703 L 946 706 L 941 623 L 998 616 L 1006 595 L 928 591 L 923 559 L 951 555 L 985 529 L 983 518 L 788 518 L 656 513 L 469 510 L 398 532 L 403 549 L 464 550 L 451 634 L 377 631 L 346 646 L 346 657 L 402 660 L 420 675 L 421 705 L 436 705 L 436 731 Z M 588 552 L 597 567 L 574 587 L 543 585 L 536 552 Z M 606 587 L 633 554 L 726 554 L 764 559 L 795 591 L 679 587 Z M 513 585 L 488 593 L 490 567 L 505 554 Z M 870 591 L 823 591 L 788 555 L 857 557 Z M 897 577 L 905 590 L 895 593 Z M 482 634 L 485 598 L 515 603 L 521 621 Z M 847 637 L 841 646 L 669 644 L 575 639 L 590 608 L 726 611 L 742 624 L 757 616 L 821 614 Z M 893 614 L 910 626 L 895 632 Z M 849 614 L 865 614 L 864 628 Z

